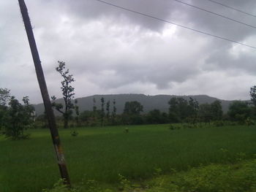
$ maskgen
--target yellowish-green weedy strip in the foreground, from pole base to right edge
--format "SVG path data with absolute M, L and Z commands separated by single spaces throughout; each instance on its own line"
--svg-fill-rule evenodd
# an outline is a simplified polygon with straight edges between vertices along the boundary
M 131 183 L 127 178 L 119 175 L 118 188 L 104 188 L 94 180 L 77 185 L 72 192 L 254 192 L 256 189 L 256 160 L 240 161 L 236 164 L 210 164 L 189 169 L 186 172 L 162 174 L 156 169 L 156 177 L 143 183 Z M 53 189 L 44 192 L 68 192 L 61 180 Z

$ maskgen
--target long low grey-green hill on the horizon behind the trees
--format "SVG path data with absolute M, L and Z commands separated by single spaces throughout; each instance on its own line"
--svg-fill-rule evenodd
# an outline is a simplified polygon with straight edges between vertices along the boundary
M 78 106 L 80 109 L 80 112 L 83 112 L 85 110 L 92 110 L 93 107 L 93 99 L 96 99 L 96 107 L 98 110 L 101 108 L 100 99 L 104 97 L 105 103 L 107 101 L 110 101 L 110 110 L 113 110 L 113 99 L 116 99 L 116 112 L 118 114 L 122 113 L 124 110 L 124 104 L 126 101 L 139 101 L 140 104 L 143 105 L 144 112 L 148 112 L 150 110 L 160 110 L 162 112 L 168 112 L 168 101 L 172 97 L 182 97 L 184 99 L 189 99 L 189 97 L 192 97 L 193 99 L 196 99 L 199 104 L 204 103 L 212 103 L 215 100 L 222 101 L 222 109 L 224 112 L 227 112 L 228 107 L 230 103 L 233 101 L 226 101 L 217 99 L 211 96 L 206 95 L 197 95 L 197 96 L 170 96 L 170 95 L 157 95 L 157 96 L 146 96 L 143 94 L 113 94 L 113 95 L 94 95 L 94 96 L 86 96 L 82 98 L 78 98 Z M 63 99 L 57 99 L 56 102 L 64 104 Z M 44 112 L 44 106 L 43 104 L 34 104 L 35 110 L 37 115 L 42 115 Z M 59 112 L 56 112 L 56 115 L 60 115 Z

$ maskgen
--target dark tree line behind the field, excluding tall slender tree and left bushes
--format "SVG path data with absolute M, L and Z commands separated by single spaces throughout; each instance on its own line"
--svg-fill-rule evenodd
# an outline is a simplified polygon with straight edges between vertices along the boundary
M 181 97 L 173 97 L 168 101 L 169 111 L 161 112 L 154 109 L 143 112 L 143 105 L 138 101 L 127 101 L 123 112 L 116 113 L 116 100 L 105 101 L 102 97 L 99 101 L 92 100 L 91 110 L 79 112 L 79 115 L 70 117 L 70 126 L 113 126 L 113 125 L 141 125 L 161 123 L 211 123 L 216 121 L 234 121 L 240 124 L 253 123 L 255 119 L 255 107 L 246 101 L 233 101 L 226 114 L 222 111 L 222 103 L 219 100 L 208 104 L 198 104 L 196 99 L 189 100 Z M 100 102 L 100 107 L 96 104 Z M 43 121 L 40 115 L 37 119 Z M 58 117 L 59 123 L 63 117 Z

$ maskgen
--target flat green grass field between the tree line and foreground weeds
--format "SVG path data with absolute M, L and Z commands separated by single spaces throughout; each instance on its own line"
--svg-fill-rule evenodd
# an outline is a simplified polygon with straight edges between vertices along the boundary
M 252 158 L 256 128 L 245 126 L 179 129 L 168 125 L 79 128 L 78 137 L 60 130 L 72 183 L 93 179 L 118 182 L 150 178 L 156 169 L 185 170 L 200 164 L 227 163 Z M 29 130 L 31 139 L 0 137 L 0 191 L 35 192 L 50 188 L 59 169 L 48 130 Z M 238 154 L 240 153 L 240 154 Z

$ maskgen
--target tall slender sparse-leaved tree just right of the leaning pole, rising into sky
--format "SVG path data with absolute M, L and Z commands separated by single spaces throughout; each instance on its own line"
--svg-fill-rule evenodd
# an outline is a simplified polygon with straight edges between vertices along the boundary
M 53 107 L 58 112 L 61 112 L 64 118 L 64 128 L 68 128 L 69 118 L 72 116 L 72 110 L 75 109 L 75 105 L 72 103 L 72 99 L 74 99 L 74 90 L 75 88 L 70 85 L 72 82 L 75 81 L 72 74 L 69 74 L 69 69 L 65 70 L 66 64 L 63 61 L 58 61 L 59 66 L 56 67 L 56 71 L 61 74 L 61 77 L 63 77 L 63 81 L 61 81 L 61 91 L 64 99 L 64 104 L 57 104 L 55 102 L 56 97 L 52 96 L 53 99 Z M 64 108 L 64 109 L 63 109 Z

